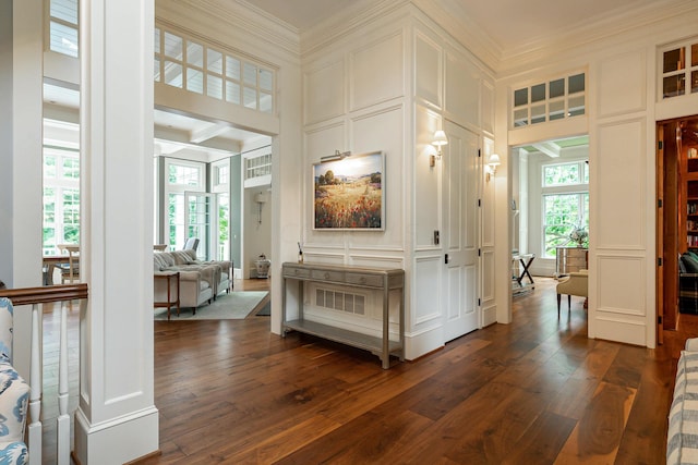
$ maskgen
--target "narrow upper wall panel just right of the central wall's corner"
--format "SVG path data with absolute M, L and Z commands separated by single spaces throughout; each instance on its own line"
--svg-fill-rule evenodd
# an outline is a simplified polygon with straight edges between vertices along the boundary
M 443 51 L 443 47 L 432 37 L 414 30 L 414 96 L 422 105 L 434 109 L 444 106 Z

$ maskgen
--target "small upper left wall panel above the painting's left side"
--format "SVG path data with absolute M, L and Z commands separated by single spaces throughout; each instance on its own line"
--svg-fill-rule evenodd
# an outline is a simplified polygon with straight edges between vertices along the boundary
M 303 75 L 305 124 L 329 120 L 346 112 L 346 66 L 339 59 Z

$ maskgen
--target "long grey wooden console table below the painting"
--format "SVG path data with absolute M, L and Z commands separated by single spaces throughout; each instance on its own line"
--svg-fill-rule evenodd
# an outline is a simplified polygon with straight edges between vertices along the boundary
M 285 262 L 281 266 L 282 302 L 281 335 L 289 330 L 316 335 L 330 341 L 371 351 L 377 355 L 383 368 L 390 367 L 390 354 L 405 359 L 405 270 L 371 267 L 351 267 L 323 264 Z M 286 286 L 288 281 L 298 281 L 298 319 L 287 320 Z M 383 329 L 380 338 L 350 331 L 334 326 L 306 320 L 303 315 L 303 286 L 313 281 L 323 284 L 336 284 L 349 287 L 381 290 L 383 292 Z M 399 341 L 389 339 L 390 291 L 400 291 Z

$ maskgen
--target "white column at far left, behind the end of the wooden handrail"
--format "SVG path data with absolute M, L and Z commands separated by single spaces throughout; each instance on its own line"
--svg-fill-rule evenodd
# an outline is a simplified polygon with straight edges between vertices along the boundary
M 8 11 L 9 4 L 11 8 Z M 11 287 L 33 287 L 41 285 L 44 2 L 14 0 L 3 2 L 2 8 L 3 23 L 8 20 L 5 14 L 11 13 L 12 48 L 11 57 L 8 57 L 11 60 L 0 61 L 0 68 L 3 69 L 2 74 L 5 77 L 5 73 L 11 73 L 12 81 L 10 87 L 3 85 L 3 89 L 9 90 L 11 100 L 0 98 L 4 118 L 9 115 L 11 119 L 9 126 L 2 124 L 2 134 L 5 134 L 9 127 L 10 137 L 9 144 L 7 140 L 1 143 L 2 151 L 9 158 L 3 155 L 0 162 L 0 171 L 3 172 L 0 175 L 0 184 L 3 184 L 0 195 L 0 203 L 3 204 L 0 207 L 0 223 L 7 229 L 7 232 L 2 233 L 2 246 L 9 248 L 0 253 L 0 261 L 7 260 L 7 264 L 10 264 L 12 274 L 2 276 L 0 279 Z M 3 39 L 3 44 L 8 45 L 7 38 Z M 5 49 L 3 57 L 7 57 L 10 50 Z M 5 63 L 11 64 L 5 66 Z M 9 150 L 4 151 L 7 148 Z M 8 184 L 4 184 L 5 182 Z M 10 196 L 4 197 L 8 192 Z M 8 217 L 4 216 L 5 212 Z M 11 234 L 10 241 L 5 242 L 8 233 Z M 7 264 L 0 268 L 5 270 Z M 28 309 L 17 311 L 14 318 L 13 362 L 17 371 L 27 378 L 31 327 L 32 313 Z

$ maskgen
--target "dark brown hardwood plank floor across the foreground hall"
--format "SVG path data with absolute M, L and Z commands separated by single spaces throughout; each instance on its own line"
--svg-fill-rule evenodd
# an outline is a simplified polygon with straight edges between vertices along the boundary
M 515 297 L 513 323 L 388 370 L 363 351 L 272 334 L 268 317 L 155 321 L 161 454 L 139 463 L 664 463 L 697 319 L 682 316 L 657 350 L 589 340 L 582 299 L 557 319 L 554 284 Z

